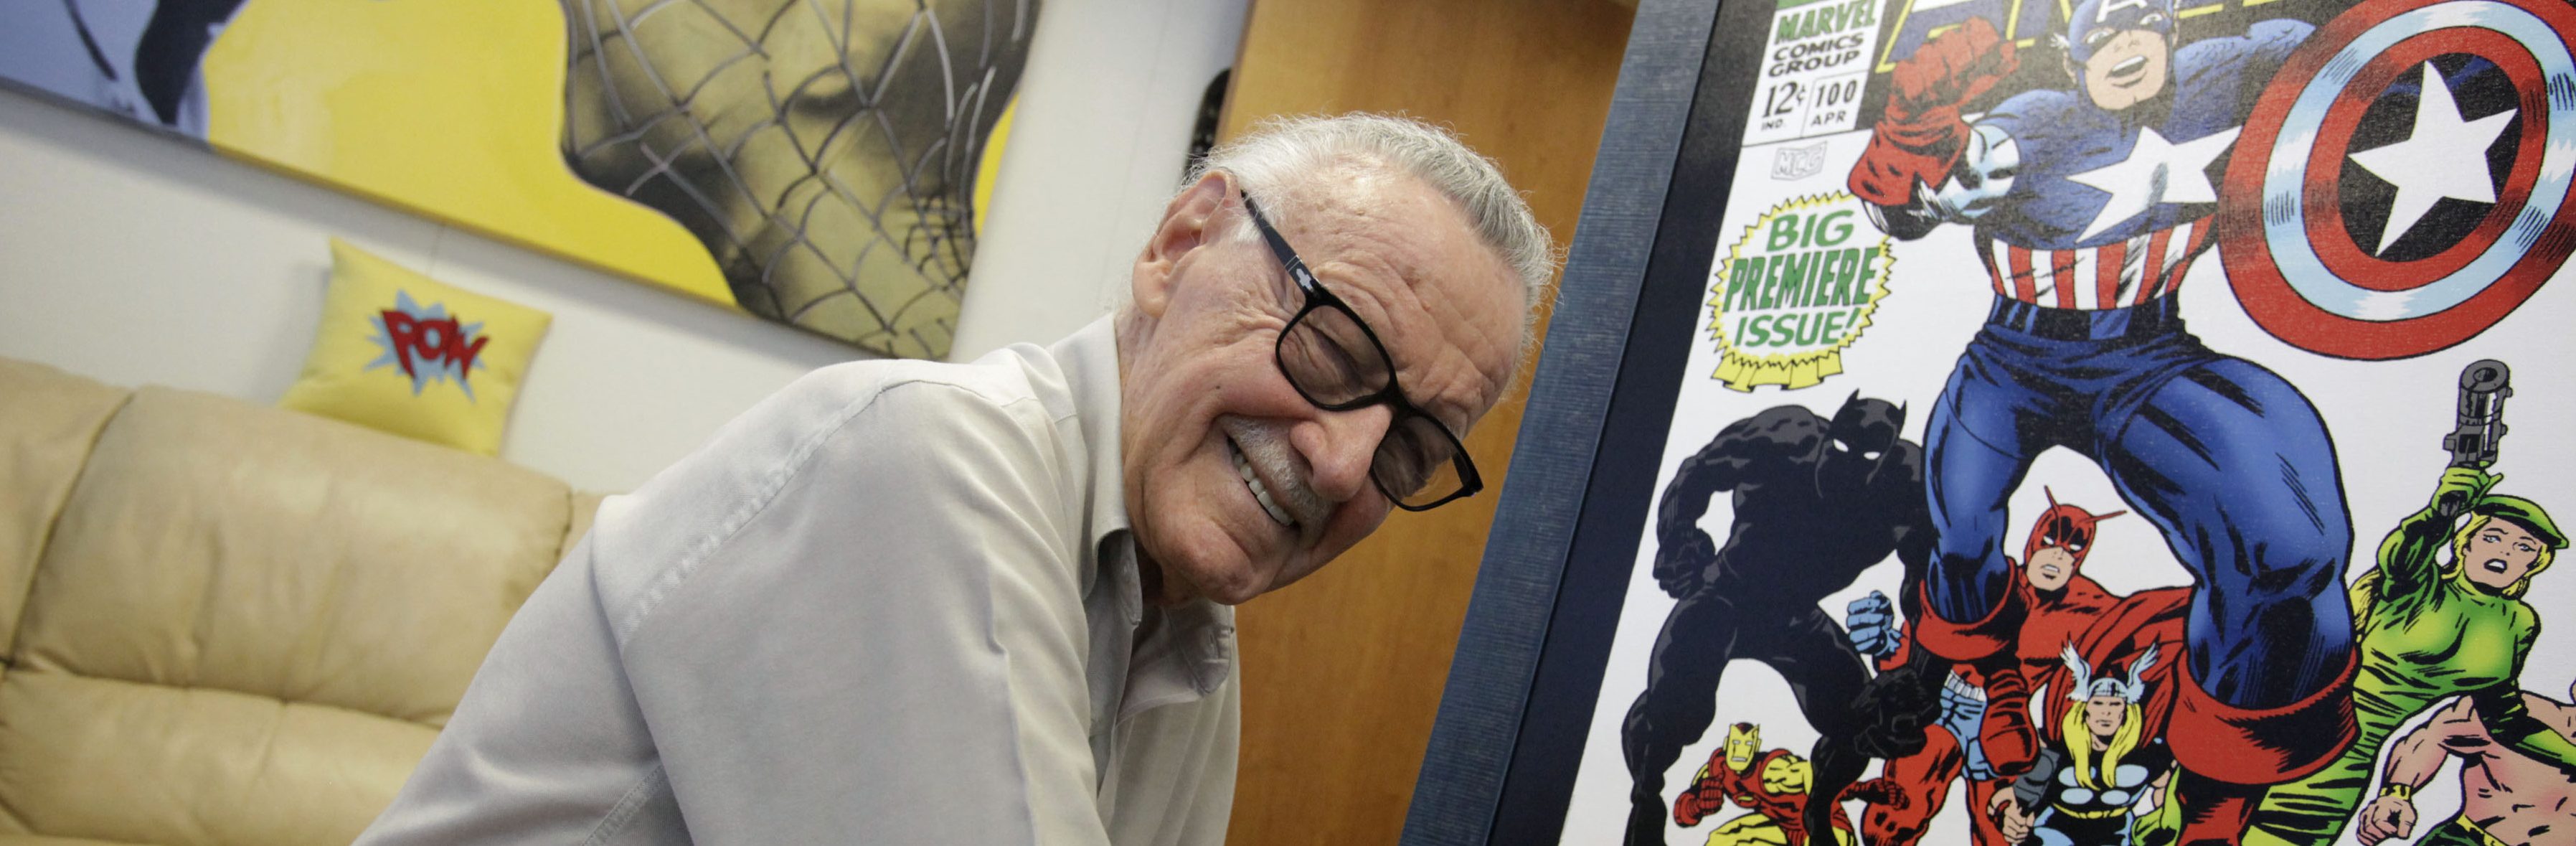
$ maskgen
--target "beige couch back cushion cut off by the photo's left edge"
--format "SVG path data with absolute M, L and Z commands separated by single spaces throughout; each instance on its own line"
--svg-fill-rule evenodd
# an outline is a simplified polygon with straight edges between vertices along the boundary
M 0 660 L 8 660 L 54 513 L 126 389 L 0 359 L 0 397 L 8 397 L 0 413 Z

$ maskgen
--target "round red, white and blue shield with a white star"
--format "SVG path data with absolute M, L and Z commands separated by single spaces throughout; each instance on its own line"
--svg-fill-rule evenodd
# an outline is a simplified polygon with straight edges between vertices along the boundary
M 2372 0 L 2264 88 L 2218 196 L 2246 315 L 2298 348 L 2476 338 L 2576 250 L 2576 8 Z

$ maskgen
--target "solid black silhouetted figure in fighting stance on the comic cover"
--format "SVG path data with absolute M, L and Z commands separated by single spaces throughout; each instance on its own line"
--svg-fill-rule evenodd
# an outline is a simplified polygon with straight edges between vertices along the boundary
M 1904 753 L 1906 738 L 1919 743 L 1924 722 L 1893 712 L 1917 712 L 1929 694 L 1878 684 L 1914 689 L 1914 673 L 1873 681 L 1834 616 L 1816 606 L 1891 552 L 1909 583 L 1929 567 L 1922 446 L 1899 436 L 1904 423 L 1904 408 L 1857 392 L 1832 420 L 1780 405 L 1728 423 L 1664 487 L 1654 580 L 1680 604 L 1654 640 L 1646 691 L 1620 727 L 1636 779 L 1628 843 L 1662 843 L 1664 771 L 1716 717 L 1728 660 L 1759 660 L 1788 678 L 1821 735 L 1811 753 L 1814 797 L 1842 797 L 1868 758 Z M 1698 526 L 1721 490 L 1734 493 L 1726 547 Z M 1834 843 L 1834 815 L 1837 802 L 1808 802 L 1806 831 L 1816 843 Z

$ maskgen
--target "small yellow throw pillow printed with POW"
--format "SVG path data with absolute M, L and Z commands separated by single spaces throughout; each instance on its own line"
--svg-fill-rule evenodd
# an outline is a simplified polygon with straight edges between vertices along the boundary
M 554 315 L 412 273 L 332 237 L 322 330 L 283 408 L 497 454 Z

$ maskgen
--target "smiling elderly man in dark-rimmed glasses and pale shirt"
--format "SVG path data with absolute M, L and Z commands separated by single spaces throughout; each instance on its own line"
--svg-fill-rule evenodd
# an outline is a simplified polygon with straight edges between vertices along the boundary
M 1221 147 L 1118 315 L 822 369 L 600 506 L 361 843 L 1218 843 L 1226 606 L 1476 493 L 1551 255 L 1422 124 Z

